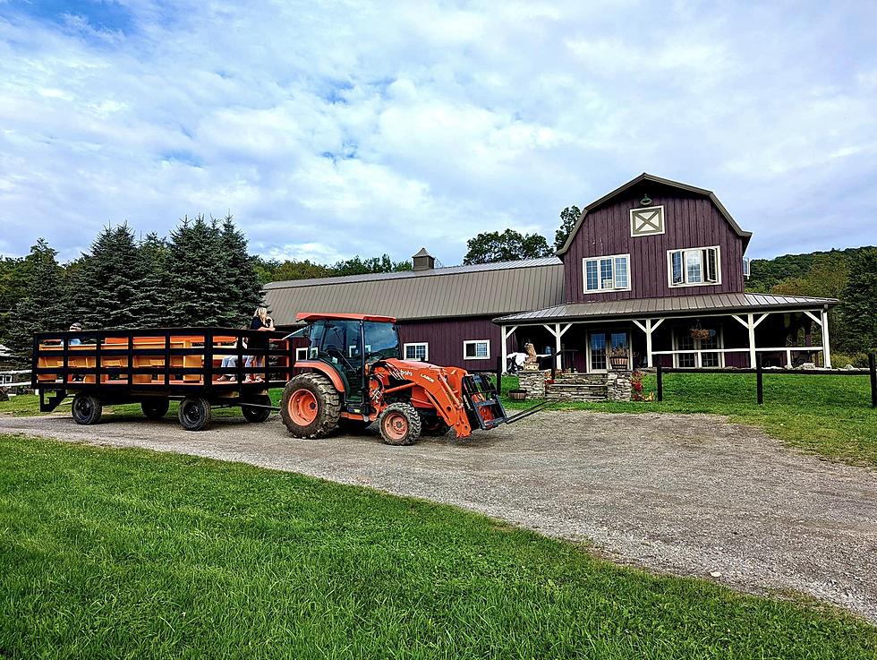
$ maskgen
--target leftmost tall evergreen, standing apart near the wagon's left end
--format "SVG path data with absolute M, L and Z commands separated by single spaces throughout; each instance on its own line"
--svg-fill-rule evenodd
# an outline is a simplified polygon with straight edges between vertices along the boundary
M 40 238 L 21 262 L 21 298 L 15 304 L 6 339 L 22 366 L 30 362 L 34 332 L 67 330 L 76 320 L 67 309 L 64 270 L 56 257 L 57 252 Z

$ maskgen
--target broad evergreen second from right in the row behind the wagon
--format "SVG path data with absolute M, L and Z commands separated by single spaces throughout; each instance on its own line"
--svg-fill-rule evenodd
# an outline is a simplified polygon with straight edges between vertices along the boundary
M 177 326 L 223 325 L 232 280 L 215 221 L 183 218 L 167 250 L 168 316 Z

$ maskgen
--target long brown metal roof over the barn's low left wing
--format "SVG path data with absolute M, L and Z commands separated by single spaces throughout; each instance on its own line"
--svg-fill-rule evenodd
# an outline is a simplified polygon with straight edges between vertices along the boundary
M 302 312 L 381 314 L 400 321 L 498 316 L 556 305 L 565 296 L 562 261 L 544 257 L 271 282 L 265 297 L 275 323 L 292 325 Z

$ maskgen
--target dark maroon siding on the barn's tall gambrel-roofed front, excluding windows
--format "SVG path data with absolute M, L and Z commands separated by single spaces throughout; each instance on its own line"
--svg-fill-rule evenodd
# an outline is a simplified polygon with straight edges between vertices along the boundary
M 650 194 L 653 205 L 664 206 L 664 234 L 630 236 L 630 210 L 640 206 L 643 193 Z M 668 250 L 710 245 L 720 247 L 721 284 L 712 287 L 670 287 Z M 630 254 L 630 291 L 603 294 L 584 292 L 585 257 L 626 253 Z M 563 258 L 567 302 L 738 293 L 745 287 L 741 265 L 743 239 L 719 209 L 708 198 L 678 190 L 661 190 L 655 184 L 636 187 L 626 192 L 623 198 L 590 211 Z

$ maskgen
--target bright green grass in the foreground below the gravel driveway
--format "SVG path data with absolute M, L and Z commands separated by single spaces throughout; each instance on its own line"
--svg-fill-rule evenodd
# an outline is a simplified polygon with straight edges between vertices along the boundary
M 872 658 L 810 602 L 208 459 L 0 436 L 0 657 Z

